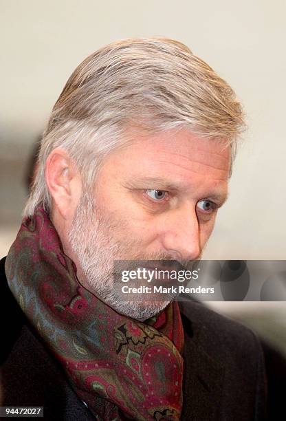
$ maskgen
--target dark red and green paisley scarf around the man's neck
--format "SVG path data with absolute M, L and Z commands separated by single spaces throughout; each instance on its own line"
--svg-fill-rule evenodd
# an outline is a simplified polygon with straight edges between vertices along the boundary
M 177 302 L 142 323 L 115 312 L 79 283 L 43 208 L 23 220 L 5 272 L 96 420 L 179 420 L 184 330 Z

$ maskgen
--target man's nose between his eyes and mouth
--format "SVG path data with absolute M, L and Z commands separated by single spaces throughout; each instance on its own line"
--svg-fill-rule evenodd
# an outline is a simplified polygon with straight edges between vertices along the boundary
M 174 259 L 195 260 L 201 254 L 199 235 L 199 222 L 195 209 L 171 211 L 168 221 L 165 221 L 164 233 L 162 233 L 162 246 L 176 257 Z

